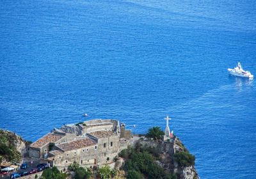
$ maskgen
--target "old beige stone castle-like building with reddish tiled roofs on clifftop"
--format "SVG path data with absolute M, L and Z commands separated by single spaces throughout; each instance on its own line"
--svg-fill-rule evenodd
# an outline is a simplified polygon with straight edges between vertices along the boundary
M 76 161 L 80 166 L 108 164 L 131 144 L 131 130 L 118 120 L 90 120 L 54 128 L 29 146 L 29 157 L 59 169 Z

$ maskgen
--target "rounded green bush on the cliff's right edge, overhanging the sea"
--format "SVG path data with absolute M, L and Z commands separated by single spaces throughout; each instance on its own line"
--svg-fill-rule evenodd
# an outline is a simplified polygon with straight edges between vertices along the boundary
M 188 167 L 195 165 L 195 156 L 189 152 L 176 152 L 174 154 L 174 159 L 182 167 Z

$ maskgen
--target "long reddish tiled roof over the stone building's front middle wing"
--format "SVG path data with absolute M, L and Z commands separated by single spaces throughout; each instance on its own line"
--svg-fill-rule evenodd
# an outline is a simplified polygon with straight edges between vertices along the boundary
M 86 146 L 92 146 L 95 145 L 96 143 L 92 141 L 92 139 L 89 139 L 86 137 L 85 139 L 77 140 L 77 141 L 72 141 L 70 143 L 63 143 L 63 144 L 58 144 L 58 148 L 64 151 L 70 151 L 70 150 L 76 150 L 79 148 L 83 148 Z

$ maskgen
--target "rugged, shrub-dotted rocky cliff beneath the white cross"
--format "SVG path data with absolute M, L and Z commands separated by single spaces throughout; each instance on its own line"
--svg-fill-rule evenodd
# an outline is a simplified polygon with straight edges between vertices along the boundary
M 132 148 L 133 151 L 121 152 L 120 156 L 125 159 L 123 169 L 127 176 L 129 176 L 129 171 L 135 170 L 138 171 L 138 176 L 141 175 L 141 178 L 199 178 L 195 169 L 195 156 L 191 155 L 185 148 L 184 144 L 182 144 L 176 137 L 168 141 L 140 137 L 140 139 L 134 140 Z M 144 152 L 149 153 L 149 155 L 141 154 Z M 157 169 L 157 166 L 154 166 L 147 171 L 147 169 L 145 169 L 147 166 L 140 166 L 140 162 L 147 162 L 148 159 L 145 161 L 132 159 L 134 155 L 138 155 L 137 157 L 142 155 L 153 159 L 154 163 L 161 167 L 164 172 L 161 171 L 160 168 Z M 152 173 L 150 170 L 155 171 Z

